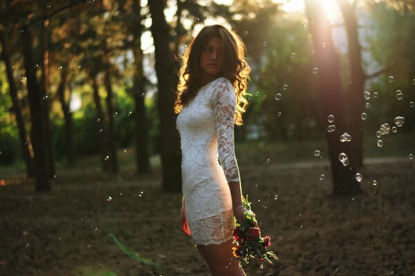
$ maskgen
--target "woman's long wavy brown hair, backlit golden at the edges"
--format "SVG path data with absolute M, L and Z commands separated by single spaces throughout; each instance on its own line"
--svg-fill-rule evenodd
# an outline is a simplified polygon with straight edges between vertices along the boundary
M 228 79 L 237 94 L 237 109 L 234 124 L 242 125 L 242 114 L 246 112 L 248 101 L 245 99 L 248 83 L 250 81 L 250 67 L 245 60 L 246 48 L 242 39 L 232 30 L 221 25 L 205 26 L 199 34 L 190 41 L 184 55 L 179 56 L 181 68 L 178 71 L 178 86 L 176 100 L 174 102 L 174 113 L 181 112 L 183 107 L 191 99 L 196 97 L 201 88 L 201 77 L 203 70 L 200 65 L 203 47 L 212 37 L 219 37 L 222 41 L 222 49 L 225 60 L 219 77 Z

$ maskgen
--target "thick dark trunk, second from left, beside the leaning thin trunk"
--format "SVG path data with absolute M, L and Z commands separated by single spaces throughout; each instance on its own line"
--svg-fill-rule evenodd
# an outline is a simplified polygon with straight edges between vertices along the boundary
M 43 100 L 39 92 L 35 74 L 35 68 L 32 57 L 32 37 L 30 29 L 26 26 L 23 28 L 23 49 L 24 49 L 24 67 L 26 69 L 27 88 L 30 105 L 30 121 L 32 122 L 31 137 L 33 144 L 35 178 L 37 191 L 48 191 L 52 187 L 48 178 L 48 161 L 46 157 L 46 148 L 44 141 L 44 117 L 43 117 Z

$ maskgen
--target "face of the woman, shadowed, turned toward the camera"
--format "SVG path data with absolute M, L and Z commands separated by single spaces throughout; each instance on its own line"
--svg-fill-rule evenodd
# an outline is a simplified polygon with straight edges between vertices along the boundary
M 202 48 L 203 77 L 210 79 L 219 75 L 222 71 L 223 59 L 222 40 L 219 37 L 212 37 Z

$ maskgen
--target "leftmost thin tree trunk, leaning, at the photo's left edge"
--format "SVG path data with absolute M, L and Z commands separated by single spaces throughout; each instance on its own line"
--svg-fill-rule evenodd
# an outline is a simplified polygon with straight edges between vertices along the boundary
M 6 65 L 6 74 L 9 83 L 10 97 L 12 97 L 13 111 L 15 112 L 17 128 L 19 128 L 19 139 L 26 163 L 26 173 L 28 177 L 34 177 L 35 170 L 33 164 L 32 142 L 30 141 L 30 137 L 26 133 L 26 128 L 24 127 L 24 118 L 21 112 L 21 102 L 19 99 L 17 99 L 17 88 L 15 79 L 13 78 L 12 63 L 10 62 L 10 52 L 8 52 L 6 32 L 1 33 L 1 48 L 3 60 Z

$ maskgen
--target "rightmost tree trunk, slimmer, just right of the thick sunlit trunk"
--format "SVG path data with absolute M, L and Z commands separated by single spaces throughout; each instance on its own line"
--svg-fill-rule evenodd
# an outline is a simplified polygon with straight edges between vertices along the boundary
M 365 72 L 362 68 L 362 55 L 358 37 L 358 22 L 353 6 L 347 0 L 338 0 L 346 25 L 349 43 L 349 130 L 356 168 L 363 166 L 363 123 L 360 115 L 365 108 L 363 104 L 363 89 L 365 89 Z

